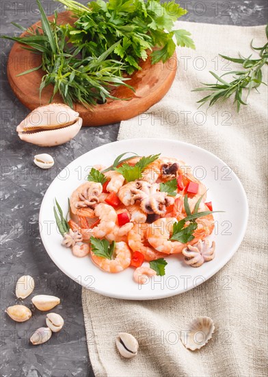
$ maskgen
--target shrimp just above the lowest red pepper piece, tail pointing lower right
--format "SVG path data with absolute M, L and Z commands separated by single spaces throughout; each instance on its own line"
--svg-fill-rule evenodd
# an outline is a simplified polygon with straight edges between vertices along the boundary
M 140 252 L 144 255 L 145 260 L 155 260 L 163 258 L 163 254 L 157 252 L 153 247 L 148 244 L 146 240 L 147 230 L 149 224 L 135 224 L 133 229 L 128 234 L 129 247 L 133 252 Z

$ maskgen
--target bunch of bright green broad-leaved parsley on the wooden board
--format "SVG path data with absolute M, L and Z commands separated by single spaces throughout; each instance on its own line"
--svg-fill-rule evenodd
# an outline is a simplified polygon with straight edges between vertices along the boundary
M 88 56 L 99 56 L 119 42 L 109 58 L 123 62 L 129 74 L 140 69 L 139 60 L 146 60 L 149 51 L 153 50 L 154 64 L 169 59 L 176 44 L 195 48 L 189 32 L 173 30 L 174 22 L 187 13 L 174 0 L 96 0 L 88 7 L 72 0 L 57 1 L 78 17 L 75 25 L 68 27 L 69 41 L 83 46 Z

